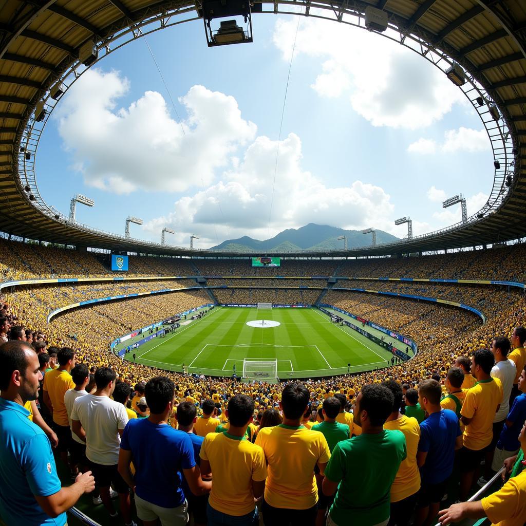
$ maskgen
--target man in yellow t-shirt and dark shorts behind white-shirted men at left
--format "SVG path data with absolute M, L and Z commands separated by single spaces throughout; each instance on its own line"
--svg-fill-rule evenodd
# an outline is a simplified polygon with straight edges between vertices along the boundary
M 69 374 L 75 367 L 75 351 L 69 347 L 63 347 L 58 351 L 57 358 L 58 368 L 46 372 L 44 376 L 44 403 L 49 412 L 53 414 L 53 427 L 58 437 L 57 451 L 65 466 L 69 466 L 74 473 L 75 468 L 68 462 L 68 451 L 72 438 L 64 395 L 68 389 L 75 388 L 75 382 Z

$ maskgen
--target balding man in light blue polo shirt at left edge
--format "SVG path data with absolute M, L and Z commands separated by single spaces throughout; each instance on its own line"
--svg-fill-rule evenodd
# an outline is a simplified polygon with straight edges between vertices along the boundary
M 38 397 L 42 373 L 23 341 L 0 346 L 0 516 L 7 524 L 64 526 L 66 510 L 95 488 L 90 471 L 61 488 L 49 440 L 27 417 L 24 404 Z

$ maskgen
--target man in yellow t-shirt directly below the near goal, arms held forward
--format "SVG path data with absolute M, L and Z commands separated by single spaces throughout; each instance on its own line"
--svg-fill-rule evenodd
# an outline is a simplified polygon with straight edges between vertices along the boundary
M 316 520 L 318 488 L 314 467 L 323 475 L 330 458 L 322 433 L 301 426 L 307 411 L 309 390 L 301 383 L 288 383 L 279 407 L 283 423 L 259 430 L 256 444 L 265 452 L 268 478 L 262 503 L 265 526 L 313 524 Z

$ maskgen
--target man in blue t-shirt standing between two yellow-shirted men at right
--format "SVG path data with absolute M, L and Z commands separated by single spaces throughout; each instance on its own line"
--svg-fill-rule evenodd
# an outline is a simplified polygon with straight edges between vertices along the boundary
M 420 423 L 417 464 L 421 485 L 417 497 L 414 524 L 431 524 L 453 471 L 455 450 L 462 447 L 462 433 L 457 415 L 440 407 L 442 388 L 437 380 L 423 380 L 418 385 L 420 407 L 428 418 Z

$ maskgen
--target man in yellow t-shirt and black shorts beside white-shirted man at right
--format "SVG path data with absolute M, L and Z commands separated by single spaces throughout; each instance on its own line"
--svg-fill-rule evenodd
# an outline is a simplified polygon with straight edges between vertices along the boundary
M 477 383 L 466 393 L 460 412 L 462 423 L 466 426 L 463 446 L 459 451 L 461 501 L 467 500 L 473 474 L 484 457 L 484 449 L 491 443 L 493 418 L 504 396 L 501 381 L 490 375 L 494 363 L 493 353 L 489 349 L 479 349 L 473 353 L 471 371 Z

